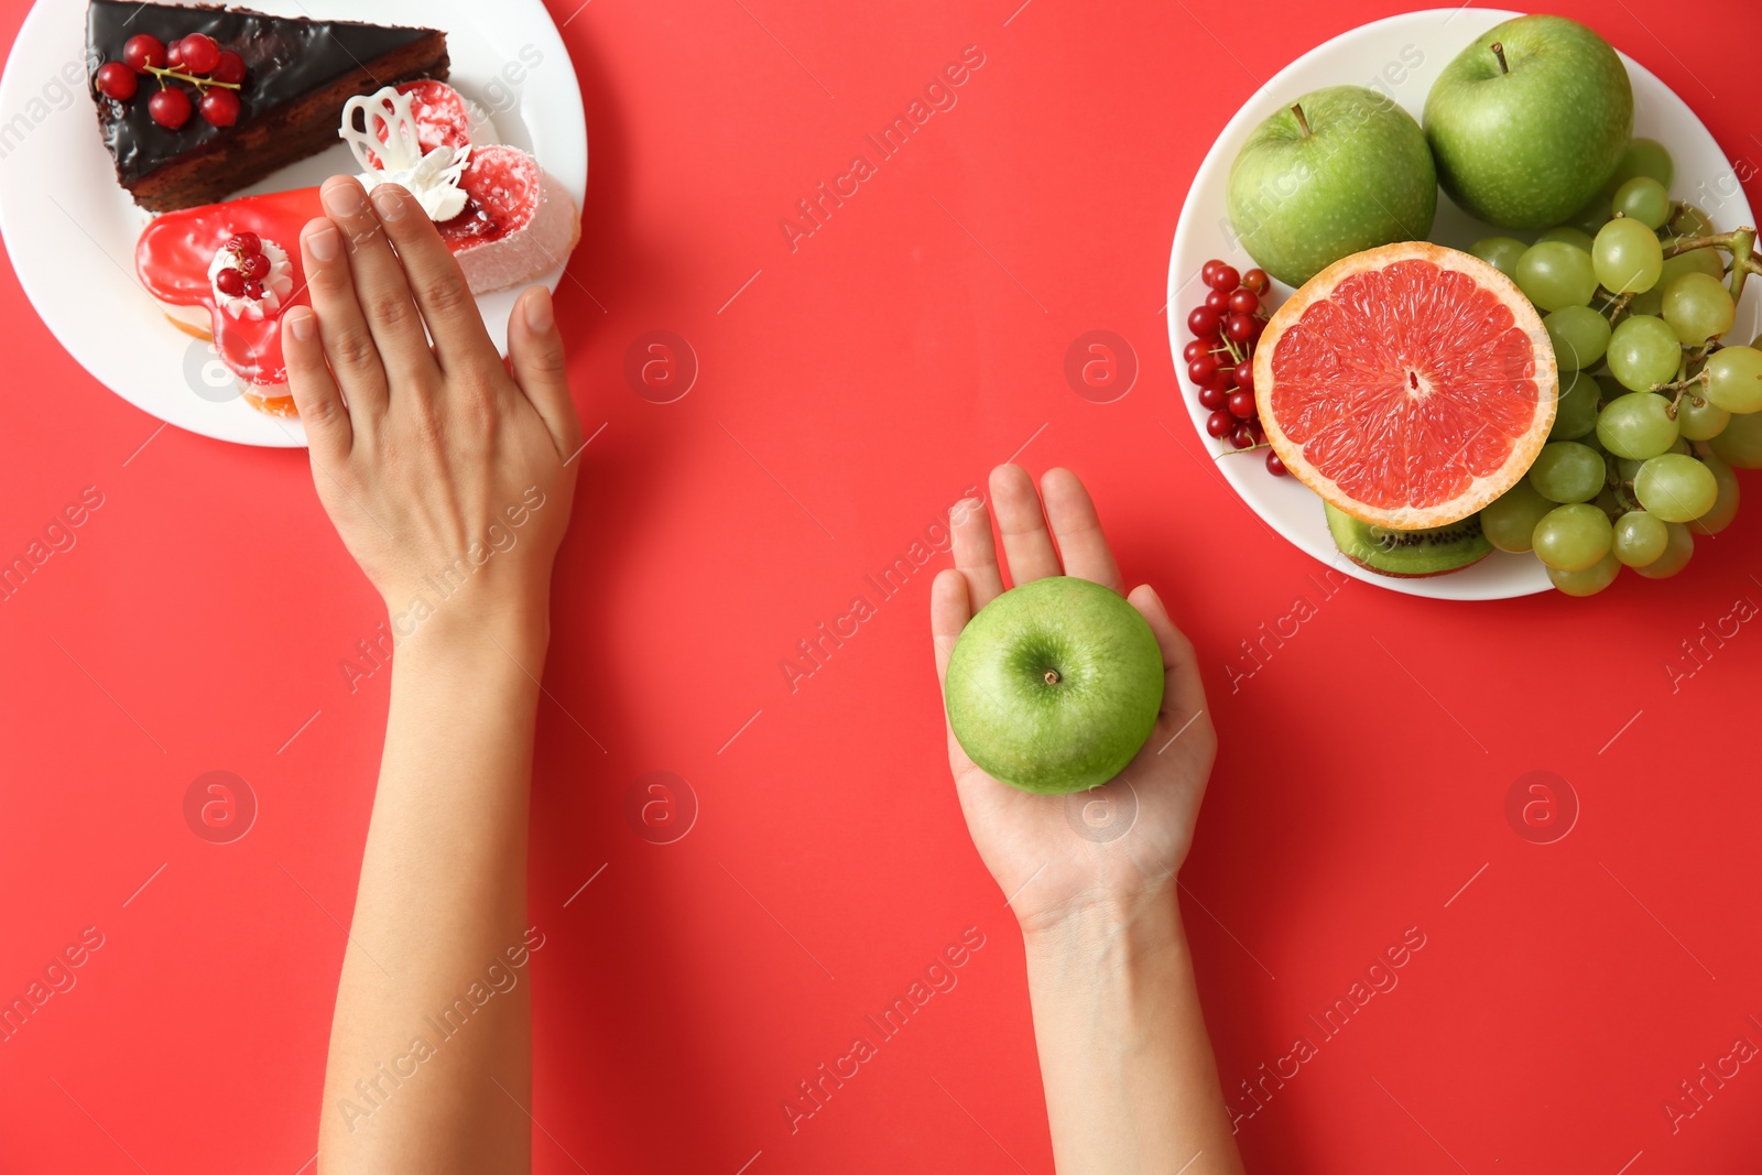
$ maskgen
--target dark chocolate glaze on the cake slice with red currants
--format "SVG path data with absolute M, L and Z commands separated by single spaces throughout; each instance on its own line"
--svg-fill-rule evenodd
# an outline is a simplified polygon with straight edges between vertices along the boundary
M 137 93 L 127 102 L 92 93 L 99 107 L 104 144 L 116 159 L 116 178 L 134 187 L 143 176 L 192 153 L 220 150 L 254 122 L 303 97 L 324 90 L 351 74 L 366 70 L 388 55 L 409 49 L 426 39 L 439 39 L 437 78 L 446 76 L 446 33 L 432 28 L 386 28 L 356 21 L 308 21 L 268 16 L 248 9 L 215 5 L 141 4 L 139 0 L 92 0 L 86 9 L 86 65 L 97 78 L 104 62 L 120 62 L 122 48 L 136 33 L 152 33 L 171 44 L 189 33 L 208 33 L 222 49 L 245 58 L 245 83 L 240 88 L 240 115 L 233 127 L 210 127 L 201 113 L 178 130 L 167 130 L 148 115 L 148 99 L 159 86 L 152 74 L 141 74 Z M 402 78 L 368 78 L 370 88 Z M 171 83 L 180 85 L 180 83 Z M 190 90 L 185 86 L 185 90 Z M 196 93 L 190 90 L 194 104 Z M 331 115 L 335 123 L 338 111 Z

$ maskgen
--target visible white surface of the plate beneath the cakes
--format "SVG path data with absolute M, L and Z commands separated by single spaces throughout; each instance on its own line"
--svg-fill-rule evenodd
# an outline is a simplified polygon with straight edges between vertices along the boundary
M 490 109 L 502 141 L 536 155 L 581 206 L 581 88 L 541 0 L 252 0 L 247 7 L 446 30 L 449 83 Z M 37 0 L 0 78 L 0 234 L 19 285 L 81 366 L 144 412 L 220 440 L 305 446 L 298 421 L 247 405 L 211 349 L 171 326 L 136 280 L 134 243 L 146 213 L 116 183 L 92 99 L 81 93 L 85 44 L 83 0 Z M 63 85 L 67 78 L 74 85 Z M 338 139 L 240 196 L 310 187 L 354 171 Z M 529 285 L 557 289 L 559 280 L 562 266 Z M 492 338 L 504 349 L 516 294 L 497 291 L 478 299 Z

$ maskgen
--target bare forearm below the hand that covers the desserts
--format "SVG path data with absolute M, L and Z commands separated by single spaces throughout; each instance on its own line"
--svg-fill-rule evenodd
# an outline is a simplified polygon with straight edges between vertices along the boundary
M 326 1171 L 530 1163 L 527 805 L 544 641 L 428 624 L 393 662 L 324 1076 Z

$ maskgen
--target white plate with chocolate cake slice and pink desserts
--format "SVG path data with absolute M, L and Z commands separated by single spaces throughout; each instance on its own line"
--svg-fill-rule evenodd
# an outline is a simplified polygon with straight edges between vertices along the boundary
M 37 2 L 0 76 L 25 111 L 0 234 L 93 377 L 196 433 L 303 446 L 280 319 L 308 305 L 300 229 L 335 174 L 411 190 L 506 349 L 518 292 L 555 289 L 580 240 L 581 92 L 539 0 L 414 11 Z

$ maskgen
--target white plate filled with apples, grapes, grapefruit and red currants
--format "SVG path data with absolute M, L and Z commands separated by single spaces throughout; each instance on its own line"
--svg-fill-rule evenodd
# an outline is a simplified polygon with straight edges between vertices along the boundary
M 1309 51 L 1188 192 L 1168 333 L 1202 442 L 1288 541 L 1440 599 L 1681 573 L 1762 469 L 1762 259 L 1725 151 L 1547 14 Z

